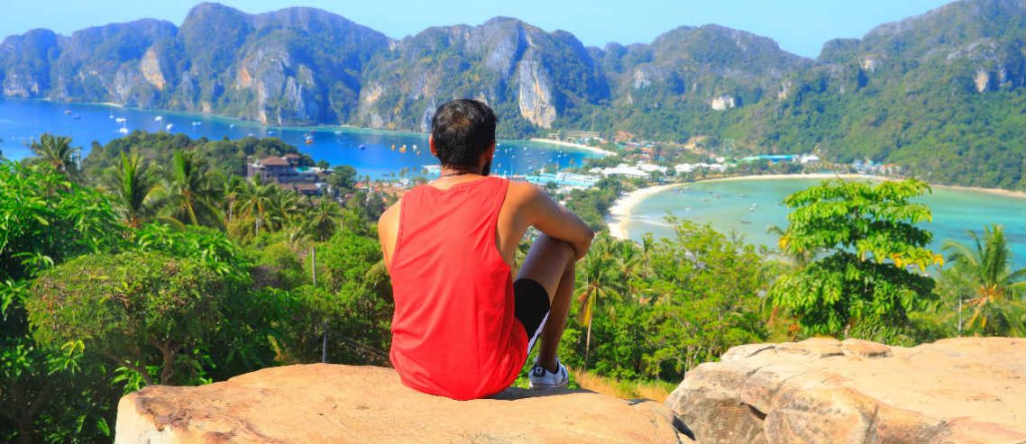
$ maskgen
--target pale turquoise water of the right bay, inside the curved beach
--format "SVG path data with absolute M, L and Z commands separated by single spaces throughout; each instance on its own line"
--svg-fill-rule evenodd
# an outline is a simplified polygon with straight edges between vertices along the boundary
M 673 214 L 699 224 L 711 224 L 722 233 L 736 231 L 749 243 L 775 247 L 777 238 L 766 228 L 787 226 L 788 208 L 781 203 L 798 190 L 819 184 L 818 179 L 750 179 L 690 184 L 649 196 L 632 210 L 627 230 L 632 239 L 644 233 L 657 238 L 672 232 L 665 216 Z M 1017 268 L 1026 267 L 1026 198 L 979 191 L 934 187 L 923 197 L 934 213 L 933 223 L 922 227 L 934 233 L 931 247 L 941 251 L 946 239 L 968 242 L 968 230 L 982 232 L 984 225 L 1004 226 Z

